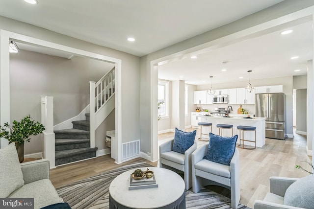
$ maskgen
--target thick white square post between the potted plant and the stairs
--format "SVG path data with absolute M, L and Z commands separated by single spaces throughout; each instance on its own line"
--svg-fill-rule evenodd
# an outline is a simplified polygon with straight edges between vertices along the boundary
M 53 97 L 41 96 L 41 123 L 45 126 L 43 158 L 50 162 L 50 168 L 55 167 L 55 138 L 53 132 Z

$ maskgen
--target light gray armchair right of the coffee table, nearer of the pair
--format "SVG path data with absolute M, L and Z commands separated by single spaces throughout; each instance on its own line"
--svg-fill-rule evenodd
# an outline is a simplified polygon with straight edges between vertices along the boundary
M 240 157 L 235 148 L 230 166 L 204 160 L 209 144 L 204 144 L 192 154 L 193 192 L 204 186 L 223 186 L 231 191 L 231 208 L 236 209 L 240 201 Z

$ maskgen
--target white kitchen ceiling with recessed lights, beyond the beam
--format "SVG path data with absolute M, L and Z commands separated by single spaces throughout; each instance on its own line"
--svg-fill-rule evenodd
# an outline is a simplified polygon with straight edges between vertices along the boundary
M 293 32 L 281 35 L 280 32 Z M 299 56 L 298 59 L 290 59 Z M 257 38 L 211 50 L 158 67 L 158 77 L 184 80 L 185 83 L 205 85 L 307 74 L 307 61 L 313 59 L 312 22 L 291 26 Z M 223 64 L 223 62 L 228 62 Z M 221 71 L 226 69 L 226 71 Z M 248 73 L 248 70 L 252 70 Z M 294 70 L 300 70 L 295 72 Z M 209 78 L 213 76 L 213 78 Z M 239 78 L 242 76 L 243 78 Z

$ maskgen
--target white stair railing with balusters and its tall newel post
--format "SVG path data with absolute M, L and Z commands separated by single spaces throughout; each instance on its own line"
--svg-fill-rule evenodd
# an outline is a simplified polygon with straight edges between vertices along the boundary
M 90 148 L 95 147 L 95 118 L 107 101 L 115 93 L 115 68 L 107 72 L 97 83 L 90 81 L 89 84 L 89 132 Z M 105 118 L 102 118 L 104 121 Z

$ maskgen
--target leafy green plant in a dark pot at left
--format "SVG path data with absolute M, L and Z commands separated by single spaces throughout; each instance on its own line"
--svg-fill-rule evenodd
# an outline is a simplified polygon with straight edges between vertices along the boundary
M 30 136 L 43 133 L 45 127 L 40 122 L 35 122 L 30 116 L 26 116 L 20 122 L 13 121 L 11 126 L 8 122 L 0 126 L 0 138 L 8 139 L 9 144 L 14 142 L 19 155 L 20 163 L 24 161 L 24 142 L 30 140 Z

